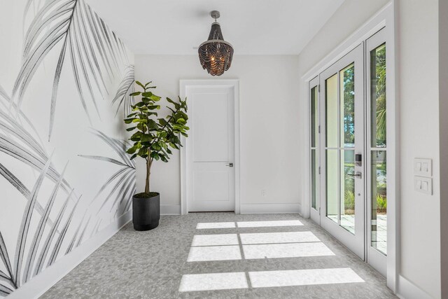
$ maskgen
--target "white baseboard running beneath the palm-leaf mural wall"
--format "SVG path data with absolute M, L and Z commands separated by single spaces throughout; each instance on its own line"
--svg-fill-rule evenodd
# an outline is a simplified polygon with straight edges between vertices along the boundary
M 109 224 L 83 244 L 80 244 L 66 256 L 59 258 L 55 264 L 46 268 L 29 282 L 8 295 L 8 299 L 38 298 L 43 295 L 45 291 L 48 291 L 57 281 L 62 279 L 62 277 L 97 250 L 99 246 L 102 246 L 104 242 L 115 235 L 118 230 L 129 223 L 131 218 L 132 210 L 127 211 L 120 218 L 117 218 L 115 222 Z

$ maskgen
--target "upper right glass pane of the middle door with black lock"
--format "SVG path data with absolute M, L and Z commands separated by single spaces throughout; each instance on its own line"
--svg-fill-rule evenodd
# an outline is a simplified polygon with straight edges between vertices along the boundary
M 355 146 L 355 64 L 339 72 L 341 92 L 341 144 L 346 148 Z

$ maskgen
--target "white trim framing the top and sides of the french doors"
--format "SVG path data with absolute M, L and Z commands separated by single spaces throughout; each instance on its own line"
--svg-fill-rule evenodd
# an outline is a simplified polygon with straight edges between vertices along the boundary
M 360 26 L 356 32 L 351 34 L 339 46 L 335 47 L 331 53 L 318 62 L 314 67 L 302 76 L 302 99 L 305 99 L 309 105 L 309 81 L 321 74 L 322 71 L 344 57 L 353 48 L 356 48 L 362 41 L 365 41 L 381 28 L 386 27 L 386 44 L 388 47 L 387 60 L 387 99 L 388 115 L 387 123 L 391 130 L 388 130 L 388 156 L 393 157 L 394 163 L 388 165 L 388 256 L 387 256 L 387 286 L 392 291 L 397 290 L 398 270 L 400 269 L 400 190 L 397 188 L 400 183 L 400 157 L 399 150 L 399 132 L 400 132 L 400 111 L 398 109 L 399 90 L 398 86 L 398 46 L 395 43 L 395 36 L 398 36 L 398 1 L 391 0 L 386 6 L 375 13 L 372 18 Z M 309 108 L 309 106 L 308 106 Z M 309 111 L 309 109 L 307 109 Z M 309 113 L 307 113 L 307 132 L 309 134 Z M 390 132 L 390 133 L 389 133 Z M 307 149 L 309 140 L 306 141 Z M 310 165 L 309 155 L 306 157 L 306 165 Z M 305 167 L 308 174 L 308 167 Z M 309 176 L 307 177 L 307 186 L 309 186 Z M 306 186 L 306 187 L 307 187 Z M 302 211 L 305 217 L 309 217 L 310 190 L 304 188 L 302 197 L 302 207 L 308 207 L 308 211 Z

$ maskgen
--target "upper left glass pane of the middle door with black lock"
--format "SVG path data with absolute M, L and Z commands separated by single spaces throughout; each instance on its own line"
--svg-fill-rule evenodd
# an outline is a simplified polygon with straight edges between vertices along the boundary
M 330 148 L 337 148 L 337 74 L 325 80 L 325 132 Z

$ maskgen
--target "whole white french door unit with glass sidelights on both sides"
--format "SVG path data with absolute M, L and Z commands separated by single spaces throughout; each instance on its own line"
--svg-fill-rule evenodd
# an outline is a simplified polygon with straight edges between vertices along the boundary
M 309 82 L 310 216 L 386 275 L 384 30 Z

